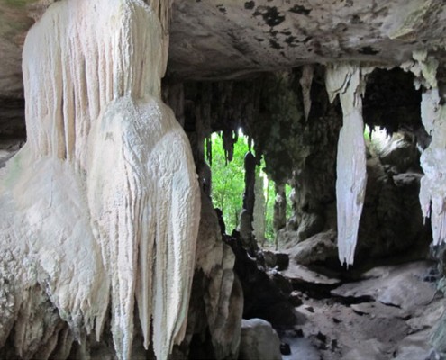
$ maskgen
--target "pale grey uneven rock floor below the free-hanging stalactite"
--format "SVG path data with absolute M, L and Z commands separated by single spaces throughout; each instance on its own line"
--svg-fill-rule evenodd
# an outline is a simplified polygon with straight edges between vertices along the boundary
M 305 284 L 314 281 L 308 271 L 298 282 L 302 269 L 289 272 L 303 303 L 296 307 L 299 325 L 279 332 L 291 350 L 284 359 L 423 360 L 430 356 L 432 327 L 444 311 L 442 293 L 429 281 L 431 262 L 376 267 L 349 283 L 320 275 L 325 281 L 316 286 Z

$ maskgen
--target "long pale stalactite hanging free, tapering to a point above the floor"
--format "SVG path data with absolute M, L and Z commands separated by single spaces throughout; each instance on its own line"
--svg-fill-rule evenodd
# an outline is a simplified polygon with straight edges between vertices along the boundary
M 330 101 L 339 94 L 343 112 L 336 161 L 336 202 L 339 259 L 347 266 L 353 264 L 367 184 L 362 74 L 359 66 L 348 64 L 332 65 L 326 72 Z

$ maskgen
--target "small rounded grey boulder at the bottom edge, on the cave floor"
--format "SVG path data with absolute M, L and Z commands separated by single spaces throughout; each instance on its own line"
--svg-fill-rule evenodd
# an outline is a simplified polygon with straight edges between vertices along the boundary
M 240 359 L 281 360 L 277 332 L 266 320 L 250 319 L 241 322 Z

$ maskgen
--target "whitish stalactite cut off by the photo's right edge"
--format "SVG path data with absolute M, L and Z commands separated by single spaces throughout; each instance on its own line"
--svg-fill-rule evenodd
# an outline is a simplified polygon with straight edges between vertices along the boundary
M 414 72 L 426 89 L 422 96 L 421 115 L 425 130 L 432 142 L 423 150 L 420 165 L 423 178 L 420 184 L 420 204 L 423 217 L 431 218 L 433 245 L 446 242 L 446 106 L 441 101 L 437 83 L 438 62 L 425 51 L 414 53 L 416 63 L 406 69 Z M 416 85 L 416 84 L 415 84 Z

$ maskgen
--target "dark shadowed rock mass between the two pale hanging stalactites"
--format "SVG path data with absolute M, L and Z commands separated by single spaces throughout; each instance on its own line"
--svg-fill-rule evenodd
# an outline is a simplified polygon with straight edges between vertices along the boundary
M 411 166 L 416 166 L 416 161 Z M 378 157 L 367 161 L 367 193 L 360 220 L 356 257 L 360 262 L 370 257 L 394 256 L 420 247 L 425 253 L 429 229 L 423 225 L 418 200 L 420 173 L 396 174 L 383 166 Z M 422 248 L 423 247 L 423 248 Z

